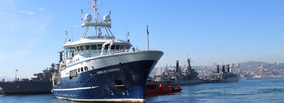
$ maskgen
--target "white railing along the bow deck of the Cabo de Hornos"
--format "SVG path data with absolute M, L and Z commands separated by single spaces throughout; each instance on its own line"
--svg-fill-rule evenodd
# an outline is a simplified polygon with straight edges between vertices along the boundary
M 115 52 L 108 52 L 108 53 L 103 53 L 103 54 L 96 54 L 96 55 L 92 55 L 91 57 L 96 57 L 96 56 L 101 56 L 101 55 L 113 55 L 113 54 L 119 54 L 119 53 L 125 53 L 125 52 L 138 52 L 138 51 L 153 51 L 153 50 L 156 50 L 156 51 L 162 51 L 161 49 L 135 49 L 133 51 L 133 49 L 127 49 L 127 50 L 122 50 L 122 51 L 115 51 Z

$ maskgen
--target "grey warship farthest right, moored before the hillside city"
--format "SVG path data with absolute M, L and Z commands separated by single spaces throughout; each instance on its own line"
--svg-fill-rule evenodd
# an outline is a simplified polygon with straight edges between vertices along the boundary
M 203 77 L 202 83 L 223 83 L 238 81 L 239 77 L 232 72 L 232 69 L 230 70 L 229 65 L 227 72 L 225 72 L 225 65 L 222 66 L 222 72 L 219 71 L 219 65 L 217 65 L 217 72 L 212 72 L 212 75 L 206 75 L 205 77 Z

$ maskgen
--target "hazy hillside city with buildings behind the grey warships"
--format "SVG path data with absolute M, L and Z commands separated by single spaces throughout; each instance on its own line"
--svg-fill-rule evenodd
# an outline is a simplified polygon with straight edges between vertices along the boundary
M 284 77 L 284 63 L 266 63 L 266 62 L 256 62 L 249 61 L 243 63 L 235 64 L 224 64 L 225 69 L 229 65 L 230 70 L 237 74 L 241 79 L 253 79 L 253 78 L 275 78 Z M 192 65 L 191 65 L 192 66 Z M 181 67 L 181 65 L 180 65 Z M 181 68 L 185 70 L 187 65 L 183 65 Z M 167 68 L 170 70 L 176 70 L 175 66 L 168 67 L 155 67 L 150 76 L 166 74 Z M 199 77 L 205 75 L 210 75 L 212 72 L 217 71 L 217 63 L 213 62 L 210 66 L 192 66 L 195 71 L 199 73 Z M 222 64 L 219 65 L 220 70 L 222 69 Z

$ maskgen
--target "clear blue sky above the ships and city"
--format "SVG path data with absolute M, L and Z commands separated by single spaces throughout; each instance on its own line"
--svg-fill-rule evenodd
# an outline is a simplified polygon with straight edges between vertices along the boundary
M 112 11 L 111 30 L 116 39 L 126 40 L 127 24 L 132 45 L 145 49 L 149 25 L 150 48 L 164 51 L 156 67 L 186 61 L 187 54 L 194 66 L 284 62 L 281 0 L 101 2 L 101 16 Z M 73 28 L 74 41 L 83 35 L 80 11 L 92 13 L 87 4 L 81 0 L 0 1 L 0 77 L 14 77 L 17 68 L 18 77 L 30 78 L 57 62 L 57 51 L 63 50 L 67 38 L 65 31 L 71 36 Z

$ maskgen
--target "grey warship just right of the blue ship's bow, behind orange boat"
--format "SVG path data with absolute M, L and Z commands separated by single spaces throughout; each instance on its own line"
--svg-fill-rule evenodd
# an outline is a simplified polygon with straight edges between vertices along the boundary
M 198 77 L 198 73 L 195 72 L 195 69 L 192 69 L 190 66 L 190 59 L 187 59 L 188 66 L 184 72 L 179 67 L 179 61 L 176 61 L 176 70 L 168 70 L 167 74 L 162 74 L 160 79 L 155 79 L 158 81 L 158 84 L 164 84 L 165 86 L 177 86 L 177 85 L 193 85 L 201 84 L 202 79 Z M 159 76 L 158 76 L 159 77 Z

